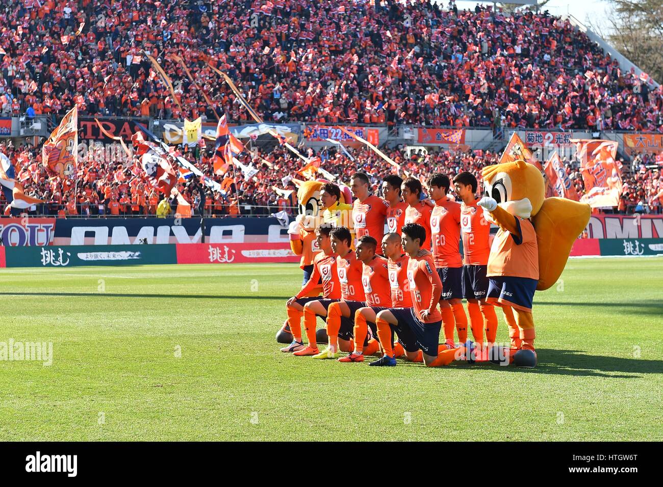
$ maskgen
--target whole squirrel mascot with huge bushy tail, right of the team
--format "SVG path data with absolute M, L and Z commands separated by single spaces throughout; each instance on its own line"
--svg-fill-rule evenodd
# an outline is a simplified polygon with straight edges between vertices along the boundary
M 557 282 L 591 208 L 544 197 L 541 172 L 522 160 L 487 166 L 482 176 L 485 196 L 477 204 L 485 219 L 499 227 L 488 258 L 486 300 L 503 309 L 511 337 L 511 349 L 500 356 L 516 366 L 534 367 L 534 292 Z

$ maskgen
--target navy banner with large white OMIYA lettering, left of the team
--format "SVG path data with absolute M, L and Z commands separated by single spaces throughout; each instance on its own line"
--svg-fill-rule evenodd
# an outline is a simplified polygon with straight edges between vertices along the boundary
M 58 219 L 55 245 L 201 243 L 200 218 Z M 288 243 L 276 218 L 206 218 L 205 243 Z

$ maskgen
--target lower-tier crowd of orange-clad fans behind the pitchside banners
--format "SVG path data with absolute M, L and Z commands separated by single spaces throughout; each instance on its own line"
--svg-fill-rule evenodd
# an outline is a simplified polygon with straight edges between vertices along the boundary
M 223 191 L 203 189 L 197 180 L 180 178 L 178 189 L 184 199 L 192 205 L 193 213 L 198 213 L 200 191 L 205 192 L 204 212 L 210 216 L 221 215 L 269 215 L 278 211 L 296 213 L 296 186 L 288 178 L 306 179 L 297 171 L 303 163 L 282 146 L 275 146 L 262 152 L 258 149 L 254 156 L 245 152 L 238 160 L 245 165 L 257 164 L 259 172 L 250 180 L 245 180 L 243 173 L 231 166 L 225 176 L 213 174 L 213 154 L 211 150 L 188 148 L 181 154 L 195 161 L 200 170 L 217 180 Z M 138 159 L 133 164 L 99 163 L 90 160 L 81 164 L 78 183 L 48 178 L 42 164 L 38 162 L 40 154 L 34 149 L 19 146 L 0 146 L 4 152 L 18 163 L 21 171 L 17 179 L 23 182 L 26 193 L 38 195 L 47 203 L 38 205 L 31 213 L 44 215 L 155 215 L 161 196 L 149 182 L 141 177 L 142 169 Z M 387 174 L 392 174 L 392 166 L 365 147 L 348 148 L 354 161 L 337 150 L 325 150 L 320 154 L 321 167 L 335 176 L 337 181 L 349 182 L 351 174 L 363 169 L 371 178 L 371 190 L 379 194 L 379 184 Z M 428 154 L 412 153 L 408 158 L 403 148 L 385 149 L 385 153 L 400 164 L 403 170 L 416 177 L 425 178 L 432 172 L 458 174 L 468 171 L 481 174 L 481 168 L 496 164 L 499 154 L 482 150 L 462 150 L 461 148 L 441 148 Z M 311 154 L 314 155 L 314 154 Z M 648 161 L 648 156 L 644 156 Z M 263 158 L 271 167 L 259 158 Z M 256 163 L 255 161 L 258 161 Z M 563 160 L 566 172 L 579 195 L 585 193 L 583 179 L 577 162 Z M 634 160 L 635 170 L 623 168 L 623 194 L 618 213 L 660 213 L 663 205 L 663 174 L 656 167 L 640 164 L 642 156 Z M 320 174 L 318 174 L 320 176 Z M 481 183 L 481 180 L 479 180 Z M 278 194 L 272 187 L 292 190 L 290 195 Z M 479 189 L 480 191 L 480 189 Z M 0 206 L 6 205 L 0 195 Z M 176 210 L 176 199 L 169 201 L 172 213 Z

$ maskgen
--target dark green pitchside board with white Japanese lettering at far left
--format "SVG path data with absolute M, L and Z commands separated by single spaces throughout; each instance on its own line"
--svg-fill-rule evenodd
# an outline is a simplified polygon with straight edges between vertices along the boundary
M 73 245 L 5 248 L 7 267 L 176 264 L 174 245 Z

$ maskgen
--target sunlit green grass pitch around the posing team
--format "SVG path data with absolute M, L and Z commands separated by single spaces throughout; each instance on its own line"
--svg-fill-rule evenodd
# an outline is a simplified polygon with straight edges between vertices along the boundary
M 376 370 L 278 350 L 296 264 L 3 269 L 0 342 L 53 357 L 0 360 L 0 441 L 663 440 L 663 258 L 562 279 L 534 370 Z

